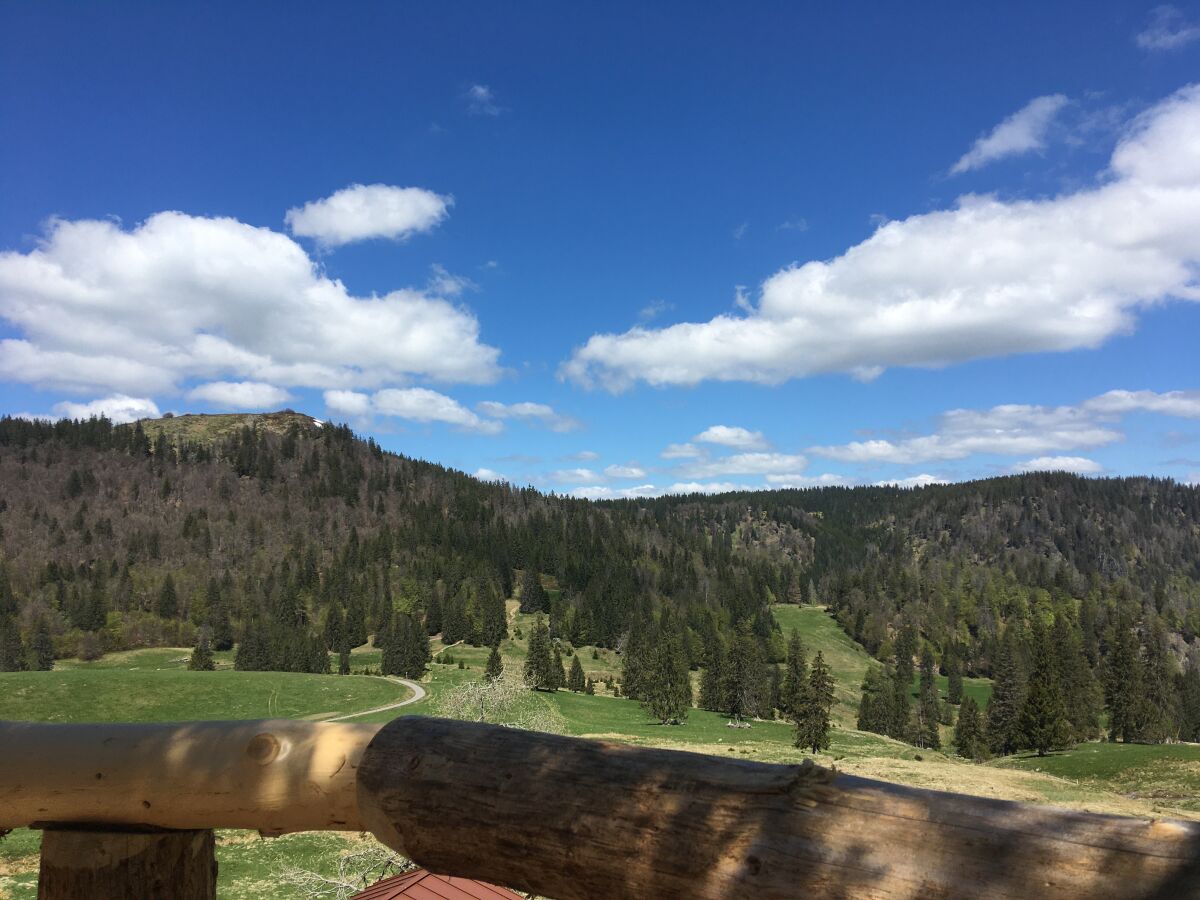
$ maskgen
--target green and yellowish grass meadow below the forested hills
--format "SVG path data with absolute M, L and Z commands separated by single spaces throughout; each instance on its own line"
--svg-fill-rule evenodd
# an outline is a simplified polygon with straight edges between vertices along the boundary
M 836 708 L 830 746 L 817 761 L 840 770 L 934 790 L 983 797 L 1050 803 L 1099 812 L 1200 818 L 1200 746 L 1084 744 L 1048 757 L 1008 757 L 974 764 L 954 756 L 918 750 L 853 728 L 859 685 L 869 665 L 862 647 L 851 641 L 818 607 L 778 606 L 785 634 L 800 631 L 811 655 L 820 649 L 836 679 Z M 510 602 L 510 625 L 521 638 L 502 644 L 505 665 L 520 667 L 533 617 Z M 436 661 L 424 679 L 427 698 L 401 710 L 356 718 L 384 722 L 397 714 L 430 714 L 438 698 L 466 680 L 478 679 L 487 648 L 432 642 Z M 592 647 L 576 653 L 588 676 L 619 680 L 620 658 Z M 304 676 L 235 672 L 229 654 L 218 655 L 217 672 L 186 671 L 188 650 L 180 648 L 112 654 L 94 662 L 62 660 L 53 672 L 0 674 L 0 718 L 37 721 L 167 721 L 241 719 L 281 715 L 325 718 L 370 709 L 403 700 L 402 685 L 365 676 Z M 445 665 L 445 660 L 451 660 Z M 458 667 L 460 662 L 462 668 Z M 570 665 L 570 659 L 564 660 Z M 379 652 L 354 650 L 354 668 L 377 667 Z M 940 682 L 944 691 L 944 679 Z M 966 690 L 986 701 L 990 683 L 967 679 Z M 725 716 L 692 709 L 679 726 L 654 722 L 634 701 L 608 695 L 558 691 L 530 695 L 545 704 L 551 719 L 568 734 L 706 752 L 762 762 L 798 762 L 804 751 L 793 745 L 793 728 L 782 721 L 755 721 L 749 728 L 728 727 Z M 0 840 L 0 899 L 36 896 L 38 833 L 18 830 Z M 341 854 L 360 850 L 364 839 L 352 834 L 299 834 L 264 840 L 245 832 L 218 835 L 220 892 L 238 898 L 299 898 L 304 894 L 283 872 L 305 869 L 331 875 Z

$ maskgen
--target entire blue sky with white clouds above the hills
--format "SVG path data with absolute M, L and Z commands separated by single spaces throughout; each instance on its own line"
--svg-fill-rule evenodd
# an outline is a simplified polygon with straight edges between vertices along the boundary
M 1200 480 L 1200 5 L 797 6 L 0 7 L 0 408 Z

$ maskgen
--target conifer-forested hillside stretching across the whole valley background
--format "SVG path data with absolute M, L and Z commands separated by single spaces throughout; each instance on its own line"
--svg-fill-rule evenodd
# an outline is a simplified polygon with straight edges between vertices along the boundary
M 1031 474 L 592 503 L 276 413 L 4 419 L 0 484 L 0 668 L 200 634 L 238 644 L 244 668 L 326 671 L 326 650 L 368 635 L 493 646 L 504 600 L 520 598 L 556 646 L 622 650 L 626 695 L 653 684 L 670 644 L 664 658 L 702 671 L 702 706 L 774 715 L 788 707 L 788 641 L 770 605 L 820 602 L 886 664 L 868 694 L 889 700 L 862 727 L 922 743 L 930 716 L 953 719 L 932 701 L 908 709 L 923 666 L 952 695 L 964 676 L 995 677 L 995 752 L 1026 740 L 1037 704 L 1051 743 L 1105 719 L 1126 739 L 1200 733 L 1200 491 L 1172 481 Z

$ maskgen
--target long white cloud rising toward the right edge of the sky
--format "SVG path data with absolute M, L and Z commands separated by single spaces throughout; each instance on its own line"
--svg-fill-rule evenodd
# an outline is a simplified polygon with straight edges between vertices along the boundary
M 1200 300 L 1200 85 L 1130 124 L 1103 182 L 1036 200 L 966 196 L 888 222 L 828 262 L 769 277 L 749 312 L 590 337 L 560 374 L 778 384 L 872 378 L 1014 353 L 1097 347 L 1140 308 Z

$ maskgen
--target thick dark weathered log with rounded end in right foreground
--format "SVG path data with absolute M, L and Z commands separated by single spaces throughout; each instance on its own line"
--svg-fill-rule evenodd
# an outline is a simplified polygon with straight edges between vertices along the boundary
M 1200 824 L 442 719 L 359 768 L 384 844 L 557 900 L 1200 896 Z

